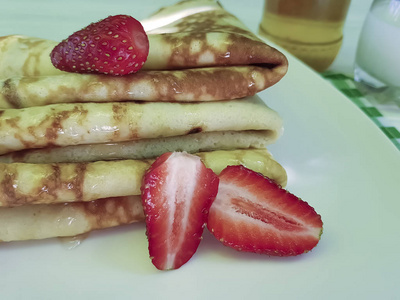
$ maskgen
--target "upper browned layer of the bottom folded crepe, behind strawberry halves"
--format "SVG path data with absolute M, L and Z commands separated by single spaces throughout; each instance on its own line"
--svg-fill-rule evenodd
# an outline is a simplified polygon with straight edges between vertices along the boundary
M 242 164 L 280 185 L 286 184 L 285 170 L 267 150 L 212 151 L 196 155 L 217 174 L 228 165 Z M 143 175 L 152 162 L 0 163 L 0 207 L 140 195 Z

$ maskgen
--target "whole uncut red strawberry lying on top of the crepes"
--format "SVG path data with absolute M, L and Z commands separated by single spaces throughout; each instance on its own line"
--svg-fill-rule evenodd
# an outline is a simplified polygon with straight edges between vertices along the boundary
M 126 75 L 137 72 L 148 54 L 142 24 L 131 16 L 116 15 L 73 33 L 50 57 L 62 71 Z

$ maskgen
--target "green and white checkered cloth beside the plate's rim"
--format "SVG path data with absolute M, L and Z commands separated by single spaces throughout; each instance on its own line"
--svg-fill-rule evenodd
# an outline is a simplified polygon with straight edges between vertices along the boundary
M 375 95 L 363 90 L 350 76 L 330 72 L 321 75 L 367 114 L 400 150 L 400 107 L 398 104 L 377 100 Z

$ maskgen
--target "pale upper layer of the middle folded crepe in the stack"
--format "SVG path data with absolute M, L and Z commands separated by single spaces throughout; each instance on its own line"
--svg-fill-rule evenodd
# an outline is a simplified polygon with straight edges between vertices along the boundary
M 282 132 L 280 116 L 256 96 L 207 103 L 53 104 L 0 111 L 0 154 L 197 132 L 254 130 L 264 135 L 266 143 L 275 141 Z

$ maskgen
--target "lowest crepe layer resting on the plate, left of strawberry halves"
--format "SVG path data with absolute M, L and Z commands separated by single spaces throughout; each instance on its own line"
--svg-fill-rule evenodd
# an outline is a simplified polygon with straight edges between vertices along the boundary
M 74 237 L 143 220 L 140 196 L 0 208 L 0 242 Z

